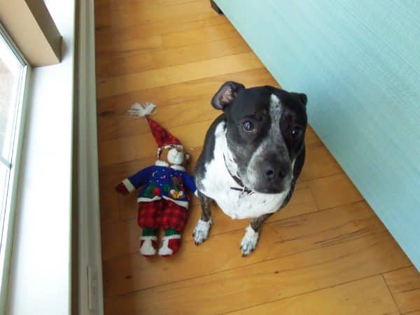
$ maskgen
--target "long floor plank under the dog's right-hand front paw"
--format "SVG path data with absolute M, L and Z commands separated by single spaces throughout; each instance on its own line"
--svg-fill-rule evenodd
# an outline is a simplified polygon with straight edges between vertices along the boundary
M 221 219 L 224 220 L 215 220 L 215 229 L 218 223 L 227 221 L 227 218 Z M 194 220 L 193 223 L 195 222 L 197 221 Z M 104 262 L 104 281 L 109 288 L 106 296 L 255 265 L 258 262 L 386 232 L 365 203 L 352 204 L 268 223 L 262 228 L 258 248 L 249 257 L 242 258 L 239 244 L 247 222 L 239 221 L 236 225 L 239 230 L 228 233 L 213 235 L 213 232 L 218 231 L 211 231 L 209 239 L 198 247 L 190 239 L 190 233 L 185 233 L 182 251 L 170 261 L 162 258 L 148 260 L 139 253 L 133 253 Z M 222 252 L 221 248 L 224 248 Z M 217 253 L 217 258 L 211 259 L 211 253 Z M 153 274 L 148 272 L 151 263 L 156 270 Z M 170 272 L 169 266 L 177 272 Z M 126 273 L 113 272 L 116 269 L 126 270 Z

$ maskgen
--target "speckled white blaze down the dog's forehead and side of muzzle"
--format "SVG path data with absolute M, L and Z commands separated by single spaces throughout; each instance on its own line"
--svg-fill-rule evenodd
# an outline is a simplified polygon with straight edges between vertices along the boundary
M 272 151 L 273 147 L 278 146 L 278 148 L 276 148 L 276 151 L 278 151 L 278 153 L 281 153 L 281 151 L 283 151 L 283 154 L 285 156 L 288 156 L 286 144 L 280 129 L 280 120 L 282 112 L 283 107 L 281 106 L 279 97 L 276 97 L 276 95 L 272 94 L 269 103 L 269 116 L 271 118 L 269 134 L 267 135 L 267 138 L 264 141 L 262 141 L 260 146 L 258 146 L 257 150 L 255 150 L 255 153 L 253 153 L 251 160 L 248 163 L 248 168 L 246 169 L 246 176 L 244 176 L 244 178 L 242 179 L 246 187 L 253 188 L 255 186 L 258 186 L 258 179 L 260 178 L 260 170 L 258 169 L 258 165 L 260 165 L 260 162 L 262 162 L 262 160 L 265 160 L 265 153 L 267 153 L 270 150 Z M 282 145 L 279 146 L 278 144 Z

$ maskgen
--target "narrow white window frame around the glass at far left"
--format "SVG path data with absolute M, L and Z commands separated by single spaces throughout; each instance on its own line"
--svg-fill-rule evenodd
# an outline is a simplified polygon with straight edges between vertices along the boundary
M 15 99 L 18 104 L 18 109 L 15 113 L 15 130 L 12 131 L 12 152 L 10 154 L 10 173 L 8 180 L 8 189 L 6 193 L 6 211 L 4 214 L 3 222 L 0 223 L 1 243 L 0 248 L 0 314 L 6 311 L 6 300 L 8 293 L 8 280 L 10 273 L 10 261 L 12 255 L 12 244 L 14 235 L 14 223 L 16 213 L 16 202 L 18 198 L 18 183 L 20 175 L 20 162 L 22 157 L 22 146 L 25 136 L 25 117 L 27 113 L 27 92 L 29 87 L 29 78 L 31 76 L 31 66 L 23 57 L 22 53 L 16 47 L 8 33 L 0 24 L 0 36 L 13 51 L 13 54 L 22 64 L 22 76 L 20 78 L 18 87 L 18 96 Z

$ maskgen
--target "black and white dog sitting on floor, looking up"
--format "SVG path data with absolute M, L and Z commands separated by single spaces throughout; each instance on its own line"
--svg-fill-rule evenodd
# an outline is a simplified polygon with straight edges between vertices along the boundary
M 241 241 L 246 256 L 262 223 L 290 200 L 302 170 L 307 97 L 230 81 L 211 104 L 223 114 L 209 128 L 195 167 L 202 214 L 193 236 L 196 245 L 209 236 L 214 200 L 232 218 L 252 218 Z

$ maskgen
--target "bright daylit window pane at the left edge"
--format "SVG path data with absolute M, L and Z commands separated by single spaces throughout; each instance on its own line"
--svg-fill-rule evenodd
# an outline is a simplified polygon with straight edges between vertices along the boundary
M 8 235 L 8 218 L 16 189 L 17 147 L 27 64 L 0 29 L 0 279 Z

